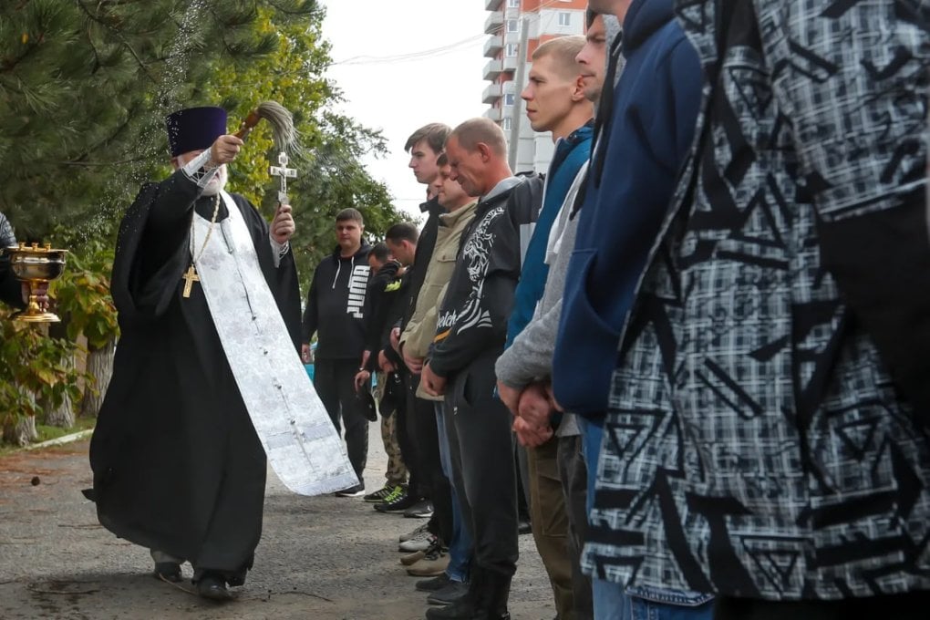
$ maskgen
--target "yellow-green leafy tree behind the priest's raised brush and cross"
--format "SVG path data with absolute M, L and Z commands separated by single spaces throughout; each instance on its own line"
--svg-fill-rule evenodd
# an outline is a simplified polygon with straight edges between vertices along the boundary
M 269 99 L 294 113 L 304 157 L 292 154 L 289 164 L 298 170 L 298 178 L 288 182 L 297 224 L 291 246 L 306 290 L 313 269 L 336 244 L 334 222 L 340 210 L 352 206 L 361 211 L 370 238 L 383 238 L 404 217 L 392 206 L 387 188 L 360 163 L 369 152 L 386 152 L 380 133 L 327 109 L 339 93 L 322 77 L 329 63 L 322 12 L 318 10 L 308 22 L 281 18 L 280 11 L 259 8 L 256 36 L 277 33 L 277 48 L 235 72 L 213 72 L 206 100 L 223 101 L 240 117 Z M 268 125 L 259 123 L 230 171 L 234 191 L 244 194 L 269 219 L 277 207 L 279 182 L 269 176 L 268 166 L 277 155 Z

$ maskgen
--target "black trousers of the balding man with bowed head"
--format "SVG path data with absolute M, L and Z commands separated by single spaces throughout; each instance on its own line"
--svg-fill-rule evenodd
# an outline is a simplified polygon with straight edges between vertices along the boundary
M 510 578 L 519 556 L 517 480 L 511 414 L 494 394 L 496 357 L 485 355 L 449 377 L 445 430 L 462 516 L 472 528 L 473 562 Z

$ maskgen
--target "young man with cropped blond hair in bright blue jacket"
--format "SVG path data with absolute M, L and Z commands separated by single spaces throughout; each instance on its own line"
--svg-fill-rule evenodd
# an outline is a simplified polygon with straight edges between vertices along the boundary
M 533 318 L 542 297 L 549 272 L 545 257 L 552 222 L 578 169 L 591 154 L 594 108 L 591 101 L 585 99 L 584 80 L 580 65 L 575 60 L 584 45 L 583 36 L 560 36 L 538 46 L 533 52 L 528 84 L 520 94 L 526 102 L 530 126 L 534 131 L 551 132 L 555 153 L 546 176 L 536 226 L 526 246 L 520 282 L 513 294 L 513 311 L 507 325 L 508 349 Z M 521 391 L 518 386 L 498 380 L 501 400 L 514 416 Z M 568 517 L 559 481 L 557 449 L 558 440 L 554 436 L 536 447 L 527 446 L 526 465 L 533 538 L 549 574 L 559 617 L 568 618 L 574 617 L 575 596 L 572 561 L 568 552 Z

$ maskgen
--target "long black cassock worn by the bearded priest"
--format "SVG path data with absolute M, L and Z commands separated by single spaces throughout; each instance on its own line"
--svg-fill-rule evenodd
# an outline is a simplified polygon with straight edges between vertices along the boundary
M 122 335 L 90 444 L 92 495 L 113 534 L 238 585 L 261 536 L 266 458 L 203 289 L 194 283 L 182 297 L 192 207 L 213 213 L 214 198 L 199 192 L 180 171 L 143 186 L 120 226 L 112 291 Z M 267 222 L 242 196 L 233 200 L 298 350 L 294 258 L 287 252 L 275 268 Z M 211 244 L 223 243 L 227 215 L 220 200 Z

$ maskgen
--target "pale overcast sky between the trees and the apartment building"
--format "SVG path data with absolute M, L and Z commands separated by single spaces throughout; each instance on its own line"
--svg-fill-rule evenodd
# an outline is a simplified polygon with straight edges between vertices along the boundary
M 328 76 L 342 89 L 337 109 L 382 130 L 389 154 L 365 164 L 394 204 L 419 216 L 425 187 L 406 167 L 407 137 L 420 125 L 458 125 L 486 109 L 482 70 L 484 0 L 324 0 L 332 44 Z M 405 57 L 405 55 L 414 55 Z M 397 57 L 405 57 L 398 59 Z M 394 58 L 390 61 L 386 58 Z

